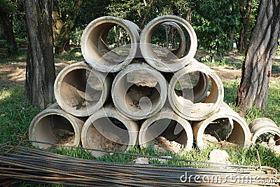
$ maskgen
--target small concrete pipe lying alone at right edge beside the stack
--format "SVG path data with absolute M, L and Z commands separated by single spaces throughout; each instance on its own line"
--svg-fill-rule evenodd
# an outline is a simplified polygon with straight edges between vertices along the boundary
M 257 118 L 249 125 L 250 131 L 253 134 L 252 144 L 261 144 L 262 142 L 269 142 L 269 138 L 273 138 L 275 145 L 280 145 L 280 129 L 269 118 Z

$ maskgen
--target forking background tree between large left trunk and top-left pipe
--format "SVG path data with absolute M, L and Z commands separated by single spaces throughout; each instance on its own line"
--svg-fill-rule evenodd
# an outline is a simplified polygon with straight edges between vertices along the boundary
M 70 32 L 77 18 L 82 0 L 54 0 L 52 9 L 55 54 L 70 52 Z

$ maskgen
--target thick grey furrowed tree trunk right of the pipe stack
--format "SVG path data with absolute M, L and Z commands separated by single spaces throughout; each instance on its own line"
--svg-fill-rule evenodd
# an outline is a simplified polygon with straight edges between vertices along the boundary
M 272 60 L 280 29 L 280 0 L 262 0 L 242 67 L 237 106 L 266 108 Z

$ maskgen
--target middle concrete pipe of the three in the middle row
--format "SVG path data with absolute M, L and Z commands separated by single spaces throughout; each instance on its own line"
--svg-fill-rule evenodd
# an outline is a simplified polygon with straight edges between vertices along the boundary
M 114 79 L 111 94 L 118 111 L 132 120 L 141 120 L 162 109 L 167 82 L 148 64 L 130 64 Z

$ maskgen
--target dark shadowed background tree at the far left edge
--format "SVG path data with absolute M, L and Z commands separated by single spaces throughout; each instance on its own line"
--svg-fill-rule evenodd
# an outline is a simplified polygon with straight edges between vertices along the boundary
M 18 48 L 15 43 L 15 34 L 13 32 L 13 12 L 15 6 L 8 0 L 0 0 L 0 26 L 5 34 L 8 55 L 17 53 Z

